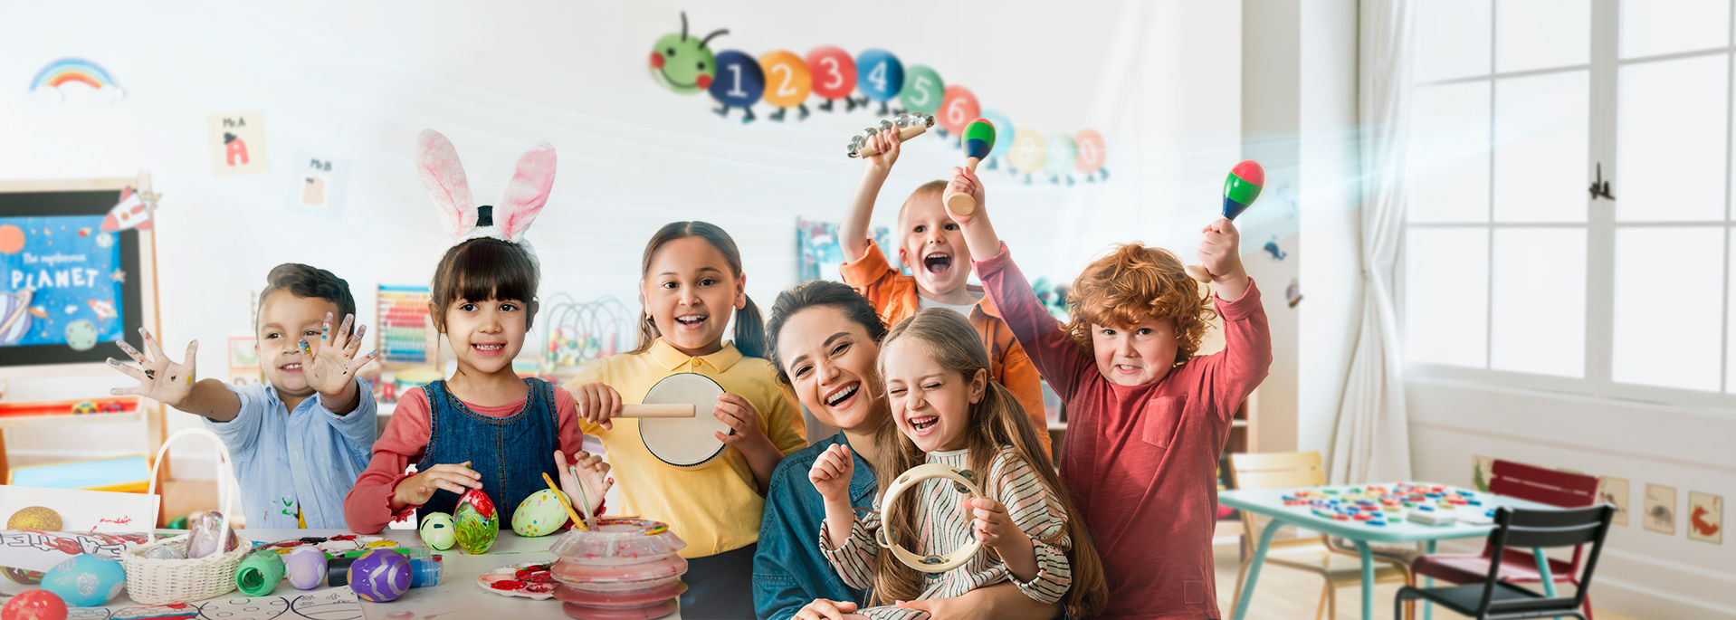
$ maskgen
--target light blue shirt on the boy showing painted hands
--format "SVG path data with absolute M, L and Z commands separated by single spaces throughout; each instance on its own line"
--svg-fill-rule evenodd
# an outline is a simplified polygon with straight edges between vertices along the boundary
M 356 380 L 359 401 L 344 415 L 321 406 L 319 394 L 288 412 L 276 387 L 224 387 L 241 398 L 241 410 L 229 422 L 203 420 L 234 457 L 247 526 L 295 530 L 299 512 L 307 528 L 349 530 L 344 495 L 368 467 L 380 434 L 368 382 Z

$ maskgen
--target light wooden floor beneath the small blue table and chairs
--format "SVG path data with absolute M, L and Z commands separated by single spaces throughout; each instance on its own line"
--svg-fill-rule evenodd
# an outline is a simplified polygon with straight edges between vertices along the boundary
M 1241 566 L 1234 545 L 1217 545 L 1217 606 L 1224 618 L 1234 604 L 1236 570 Z M 1373 617 L 1392 618 L 1392 597 L 1401 584 L 1375 585 Z M 1260 570 L 1260 582 L 1253 589 L 1253 603 L 1248 604 L 1248 620 L 1309 620 L 1319 606 L 1321 580 L 1316 575 L 1288 570 L 1283 566 L 1266 566 Z M 1356 587 L 1338 590 L 1338 615 L 1335 618 L 1358 620 L 1363 611 L 1363 592 Z M 1597 620 L 1639 620 L 1614 611 L 1595 610 Z M 1418 610 L 1417 617 L 1422 617 Z M 1434 610 L 1436 618 L 1463 618 L 1453 611 Z

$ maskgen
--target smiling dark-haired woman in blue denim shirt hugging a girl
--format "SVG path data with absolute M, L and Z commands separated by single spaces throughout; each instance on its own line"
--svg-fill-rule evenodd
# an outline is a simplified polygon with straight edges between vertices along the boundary
M 760 620 L 838 618 L 866 601 L 863 590 L 844 585 L 819 554 L 825 505 L 807 471 L 828 446 L 851 448 L 856 472 L 851 502 L 873 507 L 878 445 L 875 432 L 892 424 L 885 384 L 875 372 L 885 325 L 868 299 L 837 281 L 809 281 L 785 290 L 766 323 L 778 379 L 821 422 L 842 429 L 812 446 L 790 453 L 771 474 L 759 551 L 753 554 L 753 610 Z M 866 460 L 865 460 L 866 457 Z M 951 599 L 904 603 L 934 618 L 1054 618 L 1059 606 L 1042 604 L 998 584 Z

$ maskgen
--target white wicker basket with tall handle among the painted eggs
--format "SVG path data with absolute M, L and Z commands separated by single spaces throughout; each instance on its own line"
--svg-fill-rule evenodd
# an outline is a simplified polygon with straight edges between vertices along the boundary
M 229 448 L 222 445 L 215 434 L 205 429 L 184 429 L 175 432 L 167 441 L 163 448 L 156 452 L 156 462 L 151 465 L 151 490 L 156 493 L 156 467 L 163 465 L 163 455 L 175 439 L 184 436 L 207 436 L 217 443 L 217 479 L 222 481 L 234 471 L 229 458 Z M 220 485 L 220 483 L 219 483 Z M 234 516 L 234 495 L 227 493 L 224 504 L 222 531 L 219 540 L 227 540 L 229 521 Z M 187 535 L 179 535 L 174 538 L 156 540 L 156 533 L 151 533 L 151 540 L 125 549 L 120 552 L 120 564 L 127 568 L 127 596 L 141 604 L 174 604 L 174 603 L 193 603 L 219 597 L 234 590 L 234 571 L 241 566 L 241 559 L 247 557 L 253 545 L 241 538 L 233 551 L 210 554 L 194 559 L 155 559 L 144 557 L 146 552 L 156 547 L 186 547 Z M 220 545 L 219 545 L 220 549 Z

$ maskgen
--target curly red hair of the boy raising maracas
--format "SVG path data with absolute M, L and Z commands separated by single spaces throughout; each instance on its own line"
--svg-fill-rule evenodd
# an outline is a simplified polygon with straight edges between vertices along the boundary
M 1172 320 L 1177 344 L 1174 363 L 1182 363 L 1200 351 L 1200 340 L 1217 316 L 1207 295 L 1210 290 L 1189 278 L 1182 261 L 1170 250 L 1141 243 L 1118 245 L 1073 280 L 1073 290 L 1068 292 L 1068 304 L 1073 306 L 1068 333 L 1088 353 L 1092 323 L 1128 328 L 1147 318 Z

